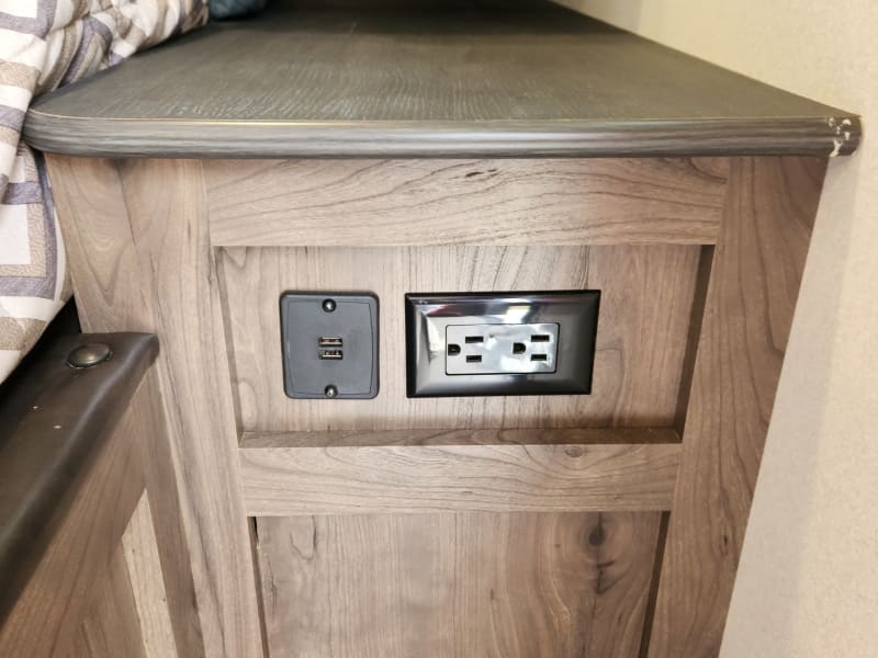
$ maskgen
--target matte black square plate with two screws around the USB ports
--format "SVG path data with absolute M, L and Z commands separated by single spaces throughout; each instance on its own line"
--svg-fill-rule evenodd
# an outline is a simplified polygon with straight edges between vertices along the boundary
M 331 311 L 324 303 L 333 302 Z M 368 399 L 379 392 L 379 304 L 372 293 L 281 295 L 283 388 L 304 399 Z M 341 339 L 340 360 L 319 358 L 320 337 Z M 334 348 L 335 349 L 335 348 Z M 334 395 L 327 396 L 327 387 Z

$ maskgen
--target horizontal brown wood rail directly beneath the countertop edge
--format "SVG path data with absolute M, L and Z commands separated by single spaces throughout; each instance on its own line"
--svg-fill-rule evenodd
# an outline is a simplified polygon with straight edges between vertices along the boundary
M 207 161 L 216 246 L 709 245 L 723 158 Z

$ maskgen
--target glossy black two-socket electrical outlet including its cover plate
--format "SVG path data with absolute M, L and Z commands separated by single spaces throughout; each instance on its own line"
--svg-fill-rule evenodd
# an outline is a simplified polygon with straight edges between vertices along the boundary
M 406 295 L 408 397 L 592 390 L 599 291 Z

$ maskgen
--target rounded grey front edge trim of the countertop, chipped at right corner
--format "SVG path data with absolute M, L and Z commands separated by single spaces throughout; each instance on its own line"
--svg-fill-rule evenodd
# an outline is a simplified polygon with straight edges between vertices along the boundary
M 81 157 L 453 158 L 847 156 L 855 115 L 783 118 L 292 122 L 83 118 L 32 110 L 23 137 Z

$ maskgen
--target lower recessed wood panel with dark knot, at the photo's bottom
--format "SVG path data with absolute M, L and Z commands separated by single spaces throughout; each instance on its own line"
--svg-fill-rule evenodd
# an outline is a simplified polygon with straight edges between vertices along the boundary
M 258 519 L 271 656 L 633 658 L 658 518 Z

